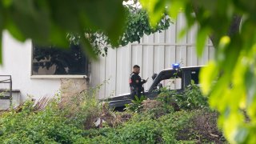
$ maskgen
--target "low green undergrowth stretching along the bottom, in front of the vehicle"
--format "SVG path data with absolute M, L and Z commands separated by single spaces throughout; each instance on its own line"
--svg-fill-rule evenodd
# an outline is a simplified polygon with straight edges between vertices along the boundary
M 202 98 L 198 88 L 175 97 Z M 16 110 L 0 114 L 1 143 L 210 143 L 225 142 L 216 126 L 217 114 L 205 101 L 191 107 L 178 102 L 175 110 L 162 92 L 158 100 L 144 100 L 141 108 L 125 112 L 107 109 L 106 103 L 94 99 L 97 90 L 87 90 L 70 102 L 58 98 L 42 109 L 26 101 Z M 163 94 L 164 93 L 164 94 Z M 189 95 L 186 95 L 189 94 Z M 164 98 L 165 97 L 165 98 Z M 140 101 L 140 99 L 138 99 Z M 45 101 L 44 101 L 45 102 Z M 134 101 L 135 102 L 135 101 Z M 40 103 L 40 102 L 39 102 Z M 138 104 L 138 102 L 137 102 Z M 94 125 L 97 118 L 102 123 Z M 104 121 L 104 122 L 103 122 Z

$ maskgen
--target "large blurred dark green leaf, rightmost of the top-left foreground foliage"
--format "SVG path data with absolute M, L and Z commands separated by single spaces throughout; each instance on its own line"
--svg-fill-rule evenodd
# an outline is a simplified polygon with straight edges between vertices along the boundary
M 104 0 L 86 2 L 82 11 L 85 24 L 94 29 L 103 30 L 110 38 L 111 44 L 118 45 L 118 39 L 123 33 L 125 10 L 122 1 Z M 87 27 L 89 27 L 87 25 Z

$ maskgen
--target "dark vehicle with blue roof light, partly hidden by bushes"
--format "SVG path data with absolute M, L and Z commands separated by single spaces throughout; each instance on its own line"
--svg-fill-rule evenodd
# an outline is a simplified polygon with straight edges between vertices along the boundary
M 153 74 L 154 81 L 149 90 L 146 90 L 144 96 L 154 99 L 160 93 L 160 89 L 165 86 L 169 90 L 177 90 L 182 92 L 186 86 L 189 86 L 191 80 L 194 84 L 198 84 L 198 75 L 202 66 L 190 67 L 174 67 L 173 69 L 162 70 L 159 74 Z M 125 104 L 131 103 L 130 94 L 121 94 L 112 98 L 107 98 L 111 108 L 123 107 Z

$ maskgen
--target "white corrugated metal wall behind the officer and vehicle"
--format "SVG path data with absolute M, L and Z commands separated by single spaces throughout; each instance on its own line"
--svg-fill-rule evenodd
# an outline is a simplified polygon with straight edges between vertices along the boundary
M 105 83 L 98 98 L 130 93 L 128 79 L 135 64 L 141 66 L 141 77 L 149 78 L 145 90 L 152 83 L 151 75 L 170 68 L 172 63 L 179 62 L 181 66 L 205 65 L 214 57 L 214 47 L 208 40 L 202 58 L 198 58 L 195 50 L 198 27 L 194 26 L 183 38 L 179 38 L 178 34 L 185 25 L 184 16 L 179 14 L 168 30 L 145 35 L 141 43 L 132 43 L 114 50 L 110 48 L 107 57 L 92 62 L 91 86 Z

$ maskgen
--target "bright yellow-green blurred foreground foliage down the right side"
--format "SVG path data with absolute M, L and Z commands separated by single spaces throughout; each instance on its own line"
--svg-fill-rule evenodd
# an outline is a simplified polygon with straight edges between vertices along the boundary
M 141 3 L 152 23 L 161 18 L 166 7 L 173 18 L 180 11 L 186 14 L 187 29 L 198 22 L 199 55 L 206 37 L 211 37 L 216 52 L 200 75 L 202 92 L 210 95 L 210 106 L 220 112 L 219 126 L 231 143 L 256 142 L 256 1 L 141 0 Z

